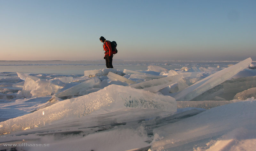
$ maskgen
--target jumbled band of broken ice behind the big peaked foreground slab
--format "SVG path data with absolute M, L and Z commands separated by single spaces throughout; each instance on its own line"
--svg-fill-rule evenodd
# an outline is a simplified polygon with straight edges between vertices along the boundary
M 214 67 L 194 66 L 188 70 L 181 68 L 175 71 L 155 65 L 148 66 L 148 73 L 154 72 L 158 75 L 126 69 L 124 72 L 116 69 L 99 69 L 84 71 L 84 77 L 76 79 L 63 77 L 44 80 L 17 73 L 20 79 L 25 80 L 23 90 L 17 96 L 78 96 L 116 84 L 169 95 L 177 101 L 232 100 L 237 93 L 256 87 L 254 78 L 256 69 L 245 69 L 249 65 L 252 66 L 251 62 L 252 59 L 247 58 L 222 70 Z M 203 75 L 207 76 L 204 78 Z M 248 85 L 249 82 L 252 85 Z M 237 83 L 241 86 L 234 87 Z

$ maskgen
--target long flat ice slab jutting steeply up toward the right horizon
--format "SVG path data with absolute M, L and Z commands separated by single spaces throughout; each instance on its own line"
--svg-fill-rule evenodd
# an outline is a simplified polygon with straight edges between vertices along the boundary
M 195 84 L 185 88 L 184 90 L 178 92 L 173 97 L 178 101 L 190 101 L 196 96 L 204 93 L 205 91 L 219 85 L 220 83 L 226 81 L 227 79 L 234 76 L 239 71 L 248 67 L 252 63 L 251 58 L 247 58 L 235 65 L 225 68 L 219 72 L 216 72 Z

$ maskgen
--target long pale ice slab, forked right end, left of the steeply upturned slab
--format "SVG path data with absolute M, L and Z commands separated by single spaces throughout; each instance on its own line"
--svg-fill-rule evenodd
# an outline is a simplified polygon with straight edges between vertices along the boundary
M 145 82 L 140 82 L 140 83 L 136 83 L 133 85 L 130 85 L 130 87 L 134 87 L 137 89 L 143 89 L 143 88 L 147 88 L 147 87 L 154 87 L 154 86 L 158 86 L 158 85 L 163 85 L 163 84 L 172 84 L 177 82 L 179 85 L 179 89 L 183 90 L 185 87 L 188 87 L 188 85 L 184 82 L 184 80 L 182 78 L 185 77 L 189 77 L 191 76 L 191 73 L 181 73 L 178 75 L 174 75 L 174 76 L 170 76 L 170 77 L 164 77 L 161 79 L 153 79 L 153 80 L 149 80 L 149 81 L 145 81 Z

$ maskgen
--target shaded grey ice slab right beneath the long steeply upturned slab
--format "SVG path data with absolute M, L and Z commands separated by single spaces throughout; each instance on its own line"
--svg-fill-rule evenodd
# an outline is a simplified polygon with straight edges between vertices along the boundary
M 222 100 L 233 100 L 234 96 L 237 93 L 252 87 L 256 87 L 256 76 L 226 80 L 221 84 L 196 96 L 191 101 L 205 101 L 205 100 L 217 101 L 217 100 L 220 100 L 219 98 L 222 98 Z

